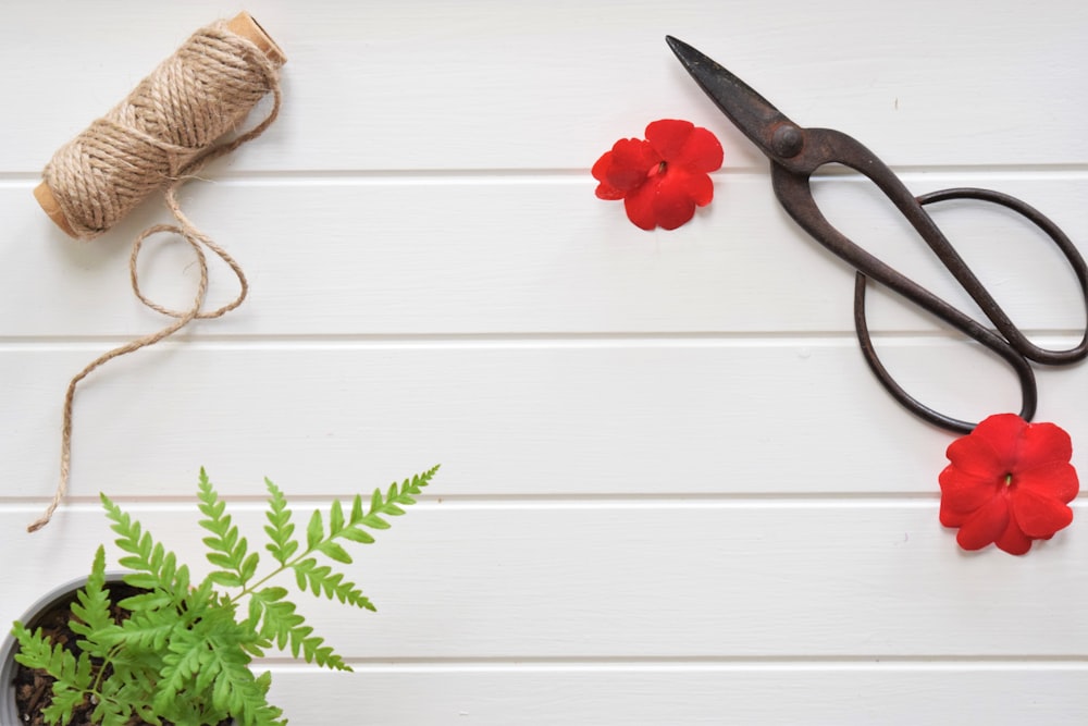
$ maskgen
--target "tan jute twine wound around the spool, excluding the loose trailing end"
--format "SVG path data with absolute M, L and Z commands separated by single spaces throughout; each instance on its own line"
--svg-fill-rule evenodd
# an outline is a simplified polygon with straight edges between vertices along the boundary
M 279 71 L 256 45 L 223 22 L 201 28 L 58 150 L 42 177 L 76 236 L 97 237 L 153 192 L 263 132 L 271 118 L 212 146 L 277 88 Z

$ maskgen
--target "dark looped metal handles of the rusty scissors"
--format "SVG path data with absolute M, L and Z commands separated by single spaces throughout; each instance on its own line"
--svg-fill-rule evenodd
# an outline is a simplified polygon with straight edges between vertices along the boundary
M 824 213 L 816 206 L 816 201 L 812 194 L 812 173 L 827 163 L 844 164 L 861 172 L 873 181 L 892 201 L 892 204 L 895 205 L 907 221 L 911 222 L 911 225 L 914 226 L 923 239 L 926 241 L 926 244 L 928 244 L 929 247 L 938 255 L 960 284 L 963 285 L 967 293 L 979 303 L 980 307 L 982 307 L 984 311 L 994 325 L 998 327 L 998 329 L 1003 333 L 1006 331 L 1009 332 L 1009 337 L 1011 340 L 1007 340 L 1006 337 L 1003 337 L 1002 335 L 982 327 L 972 317 L 953 307 L 937 295 L 934 295 L 931 292 L 910 278 L 895 271 L 880 259 L 858 247 L 849 237 L 839 232 L 839 230 L 837 230 L 827 220 Z M 880 365 L 879 359 L 876 358 L 875 352 L 873 352 L 871 341 L 868 337 L 867 327 L 865 325 L 864 319 L 864 279 L 866 278 L 871 278 L 890 290 L 899 293 L 911 303 L 930 312 L 935 317 L 959 330 L 964 335 L 982 344 L 1004 359 L 1019 380 L 1022 392 L 1021 416 L 1025 420 L 1030 420 L 1035 416 L 1035 409 L 1038 402 L 1035 373 L 1028 362 L 1028 358 L 1050 358 L 1049 360 L 1046 360 L 1046 362 L 1055 364 L 1073 362 L 1074 360 L 1084 358 L 1086 352 L 1088 352 L 1088 331 L 1086 331 L 1086 341 L 1083 341 L 1079 346 L 1071 348 L 1070 350 L 1044 350 L 1027 341 L 1023 333 L 1016 329 L 1012 320 L 1009 319 L 997 302 L 993 300 L 993 297 L 988 291 L 986 291 L 982 284 L 948 242 L 944 234 L 937 226 L 937 223 L 923 208 L 923 202 L 911 194 L 911 192 L 903 185 L 891 169 L 889 169 L 871 151 L 852 137 L 832 130 L 804 130 L 803 143 L 799 146 L 798 152 L 783 160 L 783 162 L 776 161 L 771 164 L 771 183 L 778 200 L 781 202 L 786 211 L 794 219 L 794 221 L 808 232 L 813 238 L 818 241 L 834 255 L 853 266 L 860 275 L 862 275 L 863 279 L 855 284 L 855 299 L 856 290 L 860 285 L 862 291 L 861 300 L 863 305 L 861 307 L 862 327 L 858 329 L 858 339 L 862 342 L 862 349 L 865 352 L 866 360 L 877 374 L 878 380 L 880 380 L 881 384 L 885 385 L 889 393 L 908 410 L 924 420 L 955 432 L 969 432 L 974 429 L 973 423 L 944 416 L 918 403 L 916 399 L 906 394 L 902 387 L 895 384 L 888 372 Z M 954 198 L 954 196 L 948 195 L 942 197 L 940 194 L 941 193 L 937 193 L 934 198 L 926 199 L 926 201 L 931 202 L 940 199 Z M 960 194 L 960 196 L 967 195 Z M 1006 197 L 1005 195 L 999 196 L 1001 199 L 999 204 L 1005 204 L 1013 199 L 1012 197 Z M 972 198 L 979 197 L 974 196 Z M 986 198 L 986 200 L 989 201 L 994 201 L 996 199 L 997 197 Z M 1006 204 L 1006 206 L 1010 205 Z M 1013 201 L 1011 208 L 1021 213 L 1025 213 L 1025 210 L 1030 210 L 1027 205 L 1024 205 L 1018 200 Z M 1035 212 L 1035 210 L 1030 211 Z M 1068 242 L 1064 234 L 1061 234 L 1061 231 L 1058 230 L 1056 225 L 1041 214 L 1035 212 L 1034 214 L 1028 213 L 1025 216 L 1039 224 L 1044 231 L 1048 232 L 1048 234 L 1051 235 L 1052 238 L 1054 238 L 1055 243 L 1059 244 L 1059 247 L 1062 248 L 1063 254 L 1065 254 L 1066 258 L 1070 259 L 1071 263 L 1073 263 L 1074 269 L 1077 270 L 1081 284 L 1085 286 L 1084 281 L 1086 275 L 1084 272 L 1084 260 L 1080 258 L 1079 253 L 1076 251 L 1076 248 L 1072 245 L 1072 243 Z M 1056 231 L 1059 236 L 1055 237 L 1051 234 L 1052 231 Z M 1079 268 L 1077 260 L 1079 260 Z M 1086 293 L 1086 305 L 1088 305 L 1088 293 Z M 1024 345 L 1025 343 L 1027 345 Z

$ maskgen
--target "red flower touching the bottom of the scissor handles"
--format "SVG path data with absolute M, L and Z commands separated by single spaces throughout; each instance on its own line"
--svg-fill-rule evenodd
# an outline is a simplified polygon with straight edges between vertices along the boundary
M 1070 434 L 1053 423 L 1015 414 L 991 416 L 948 448 L 941 471 L 941 524 L 959 527 L 956 542 L 980 550 L 991 542 L 1022 555 L 1073 521 L 1066 506 L 1080 484 L 1070 464 Z

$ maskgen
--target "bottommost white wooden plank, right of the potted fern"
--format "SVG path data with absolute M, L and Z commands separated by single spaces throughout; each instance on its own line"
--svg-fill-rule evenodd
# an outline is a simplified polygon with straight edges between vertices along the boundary
M 292 723 L 473 726 L 719 726 L 722 723 L 1079 726 L 1076 663 L 704 663 L 273 668 L 272 699 Z M 314 693 L 323 694 L 314 698 Z

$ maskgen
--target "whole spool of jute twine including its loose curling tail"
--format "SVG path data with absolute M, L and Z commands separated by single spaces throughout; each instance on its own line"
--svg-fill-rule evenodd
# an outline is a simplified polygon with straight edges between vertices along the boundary
M 218 318 L 242 305 L 248 292 L 238 263 L 182 213 L 178 187 L 214 159 L 260 136 L 280 111 L 280 66 L 286 58 L 248 13 L 200 28 L 173 56 L 139 83 L 109 113 L 53 155 L 34 196 L 65 233 L 78 239 L 104 234 L 152 194 L 162 190 L 173 224 L 141 232 L 128 261 L 136 297 L 151 309 L 174 318 L 160 331 L 112 350 L 90 364 L 69 383 L 61 428 L 60 481 L 45 514 L 27 530 L 49 524 L 67 491 L 72 459 L 72 411 L 76 386 L 96 368 L 119 356 L 152 345 L 193 320 Z M 265 96 L 268 115 L 249 131 L 237 130 Z M 196 297 L 185 310 L 173 310 L 147 298 L 139 287 L 137 260 L 144 242 L 169 233 L 195 251 L 200 273 Z M 238 295 L 214 310 L 203 310 L 210 250 L 238 280 Z

